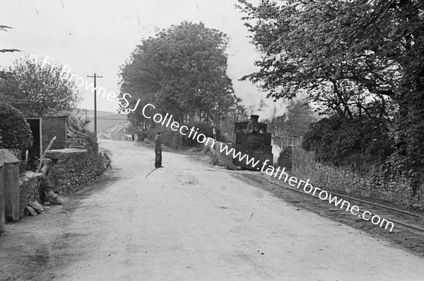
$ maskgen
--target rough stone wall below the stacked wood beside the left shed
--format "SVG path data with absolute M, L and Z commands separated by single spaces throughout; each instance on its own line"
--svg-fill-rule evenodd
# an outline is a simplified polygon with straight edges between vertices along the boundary
M 55 193 L 66 193 L 98 177 L 109 165 L 105 154 L 96 149 L 58 149 L 47 151 L 52 160 L 48 182 Z

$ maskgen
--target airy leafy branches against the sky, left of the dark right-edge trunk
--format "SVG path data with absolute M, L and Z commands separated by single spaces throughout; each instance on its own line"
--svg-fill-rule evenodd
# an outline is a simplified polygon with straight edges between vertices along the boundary
M 381 35 L 353 42 L 354 23 L 367 14 L 359 2 L 263 0 L 253 6 L 240 0 L 263 54 L 259 71 L 243 79 L 276 99 L 307 91 L 324 113 L 386 117 L 399 64 L 375 55 Z

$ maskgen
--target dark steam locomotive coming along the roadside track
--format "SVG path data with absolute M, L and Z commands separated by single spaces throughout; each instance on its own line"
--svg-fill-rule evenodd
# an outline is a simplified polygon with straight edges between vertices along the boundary
M 261 163 L 268 159 L 267 163 L 272 165 L 271 133 L 266 132 L 266 123 L 260 123 L 258 120 L 259 115 L 250 115 L 250 121 L 234 123 L 234 148 L 237 152 L 247 154 L 248 159 L 254 158 L 255 162 L 259 160 Z M 252 162 L 247 164 L 246 158 L 240 161 L 239 157 L 235 157 L 232 163 L 249 169 L 257 169 L 262 166 L 252 167 Z

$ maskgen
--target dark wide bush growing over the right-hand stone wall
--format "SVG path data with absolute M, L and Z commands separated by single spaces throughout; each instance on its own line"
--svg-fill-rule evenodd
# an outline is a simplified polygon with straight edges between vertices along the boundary
M 320 161 L 361 166 L 382 163 L 392 154 L 393 143 L 382 120 L 334 116 L 312 123 L 302 148 L 314 150 Z

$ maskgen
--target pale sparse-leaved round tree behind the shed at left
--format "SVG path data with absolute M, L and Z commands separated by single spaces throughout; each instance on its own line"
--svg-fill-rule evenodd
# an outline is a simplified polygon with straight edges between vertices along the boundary
M 76 85 L 61 79 L 61 66 L 31 64 L 28 58 L 18 59 L 8 69 L 10 77 L 0 79 L 4 100 L 27 117 L 57 115 L 76 108 L 80 101 Z

